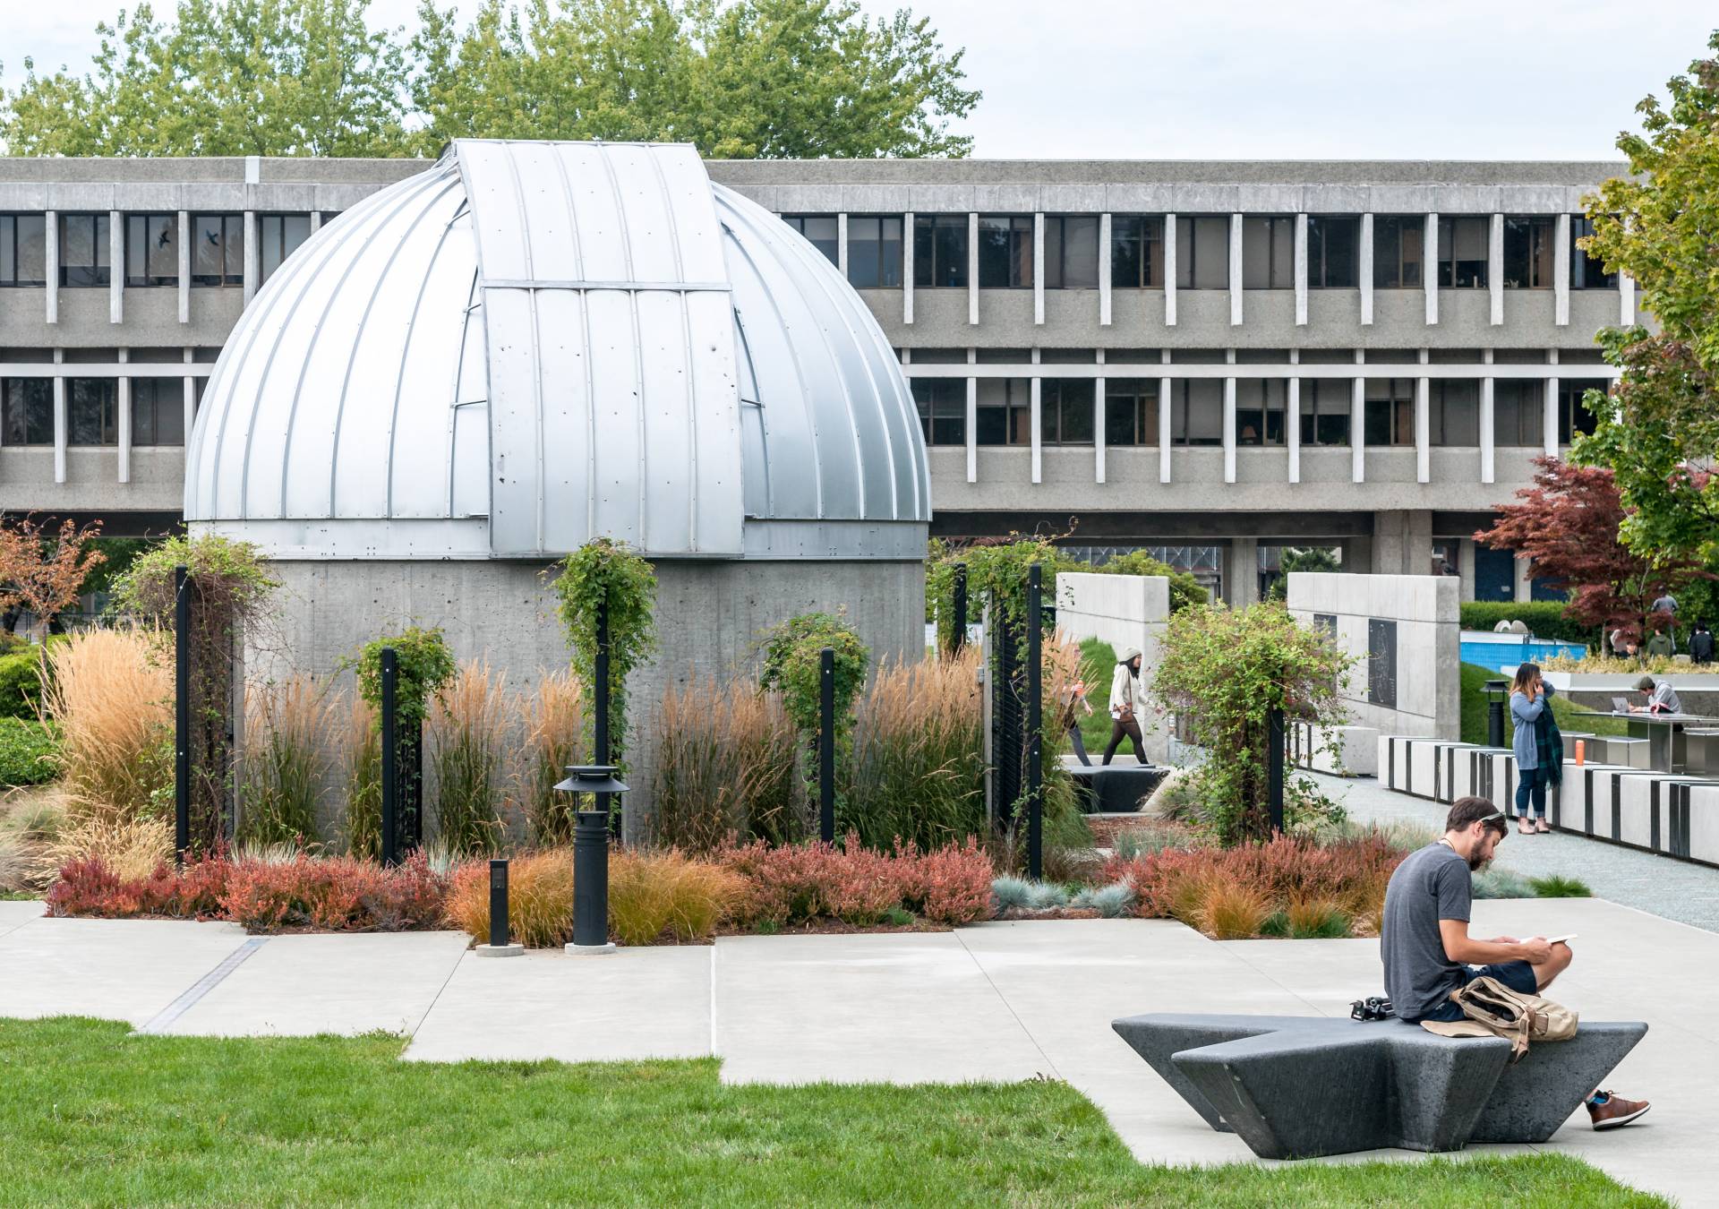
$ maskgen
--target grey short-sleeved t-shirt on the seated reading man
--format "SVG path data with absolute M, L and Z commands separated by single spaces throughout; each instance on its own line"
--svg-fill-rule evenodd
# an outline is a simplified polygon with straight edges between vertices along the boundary
M 1463 967 L 1444 954 L 1439 920 L 1466 924 L 1471 899 L 1468 862 L 1444 843 L 1410 853 L 1391 874 L 1379 953 L 1399 1020 L 1420 1020 L 1463 985 Z

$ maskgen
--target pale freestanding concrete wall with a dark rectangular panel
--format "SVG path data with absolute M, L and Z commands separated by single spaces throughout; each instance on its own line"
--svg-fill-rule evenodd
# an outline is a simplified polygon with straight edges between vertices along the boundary
M 1288 605 L 1355 657 L 1341 693 L 1355 722 L 1380 734 L 1461 734 L 1454 576 L 1294 571 Z

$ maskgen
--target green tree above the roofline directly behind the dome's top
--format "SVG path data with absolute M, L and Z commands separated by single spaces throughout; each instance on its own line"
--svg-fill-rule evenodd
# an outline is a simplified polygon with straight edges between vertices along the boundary
M 425 0 L 414 98 L 431 141 L 686 141 L 715 158 L 966 155 L 963 52 L 853 0 Z

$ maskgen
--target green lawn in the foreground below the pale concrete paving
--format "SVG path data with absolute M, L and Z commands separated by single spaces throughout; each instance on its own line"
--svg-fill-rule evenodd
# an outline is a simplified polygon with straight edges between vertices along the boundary
M 717 1063 L 402 1063 L 397 1037 L 0 1022 L 9 1204 L 1664 1206 L 1563 1156 L 1145 1168 L 1059 1082 L 724 1087 Z M 1145 1066 L 1141 1078 L 1153 1078 Z

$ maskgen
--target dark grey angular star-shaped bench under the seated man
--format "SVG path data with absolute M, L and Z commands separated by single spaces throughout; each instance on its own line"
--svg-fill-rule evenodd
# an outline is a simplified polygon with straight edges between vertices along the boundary
M 1511 1065 L 1502 1037 L 1439 1037 L 1401 1020 L 1150 1015 L 1110 1027 L 1262 1159 L 1545 1142 L 1647 1034 L 1583 1022 L 1573 1040 Z

